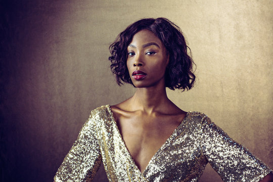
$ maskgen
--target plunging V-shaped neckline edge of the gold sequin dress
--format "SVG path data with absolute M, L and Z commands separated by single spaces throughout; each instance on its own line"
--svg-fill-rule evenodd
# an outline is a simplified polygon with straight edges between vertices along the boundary
M 108 109 L 108 112 L 110 113 L 111 121 L 113 122 L 114 127 L 115 127 L 115 129 L 117 130 L 118 137 L 119 137 L 119 139 L 120 139 L 120 141 L 121 141 L 123 147 L 125 148 L 127 155 L 129 156 L 129 160 L 130 160 L 131 163 L 134 165 L 134 167 L 135 167 L 136 169 L 138 169 L 138 171 L 139 171 L 144 177 L 145 177 L 146 170 L 148 170 L 149 165 L 151 164 L 151 162 L 154 160 L 154 158 L 155 158 L 156 156 L 159 155 L 159 153 L 165 148 L 166 145 L 170 144 L 170 142 L 171 142 L 172 139 L 173 139 L 174 134 L 178 131 L 178 129 L 179 129 L 181 126 L 183 126 L 183 124 L 185 123 L 186 118 L 188 117 L 188 115 L 189 115 L 189 113 L 190 113 L 190 112 L 187 112 L 186 116 L 183 118 L 183 120 L 180 122 L 180 124 L 173 130 L 173 132 L 170 134 L 170 136 L 167 138 L 167 140 L 164 142 L 164 144 L 156 151 L 156 153 L 155 153 L 155 154 L 153 155 L 153 157 L 150 159 L 150 161 L 149 161 L 148 165 L 145 167 L 144 171 L 141 172 L 140 168 L 135 164 L 135 162 L 134 162 L 134 160 L 133 160 L 133 158 L 132 158 L 132 156 L 131 156 L 129 150 L 127 149 L 127 146 L 125 145 L 125 141 L 123 140 L 122 135 L 121 135 L 121 133 L 120 133 L 120 130 L 118 129 L 117 122 L 115 121 L 114 114 L 113 114 L 113 112 L 112 112 L 112 109 L 111 109 L 110 105 L 106 105 L 106 107 L 107 107 L 107 109 Z M 146 177 L 145 177 L 145 178 L 146 178 Z

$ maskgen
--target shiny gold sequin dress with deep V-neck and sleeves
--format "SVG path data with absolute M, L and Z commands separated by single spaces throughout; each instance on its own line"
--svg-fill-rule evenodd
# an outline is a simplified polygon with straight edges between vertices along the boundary
M 188 112 L 143 173 L 109 105 L 90 113 L 54 179 L 92 181 L 103 161 L 109 181 L 198 181 L 209 162 L 223 181 L 259 181 L 271 169 L 200 112 Z

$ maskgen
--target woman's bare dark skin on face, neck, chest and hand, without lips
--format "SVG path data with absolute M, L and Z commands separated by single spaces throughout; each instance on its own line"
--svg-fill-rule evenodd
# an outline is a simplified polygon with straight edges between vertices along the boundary
M 127 51 L 129 74 L 141 70 L 147 75 L 142 80 L 131 76 L 135 94 L 111 106 L 111 110 L 132 159 L 143 173 L 187 112 L 167 97 L 164 74 L 169 59 L 161 40 L 149 30 L 141 30 L 133 36 Z M 273 181 L 273 174 L 260 181 Z

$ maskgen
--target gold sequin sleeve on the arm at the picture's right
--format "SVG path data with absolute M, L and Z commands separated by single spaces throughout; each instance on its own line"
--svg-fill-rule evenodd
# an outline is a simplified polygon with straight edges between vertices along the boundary
M 202 151 L 223 181 L 259 181 L 271 169 L 205 117 Z

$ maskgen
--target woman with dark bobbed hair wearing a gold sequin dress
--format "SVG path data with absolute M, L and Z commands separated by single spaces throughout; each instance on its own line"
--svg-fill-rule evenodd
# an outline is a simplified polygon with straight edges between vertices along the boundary
M 224 181 L 270 181 L 271 170 L 203 113 L 185 112 L 166 95 L 191 89 L 193 60 L 179 27 L 142 19 L 110 46 L 118 84 L 135 94 L 93 110 L 55 181 L 92 180 L 103 161 L 109 181 L 198 181 L 209 162 Z

